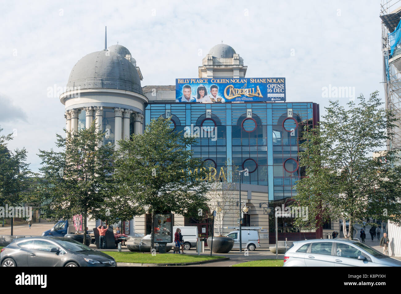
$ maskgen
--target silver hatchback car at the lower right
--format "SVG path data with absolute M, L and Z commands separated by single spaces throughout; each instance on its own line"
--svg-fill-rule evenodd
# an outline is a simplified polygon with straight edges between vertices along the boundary
M 346 239 L 294 241 L 284 266 L 401 266 L 401 261 Z

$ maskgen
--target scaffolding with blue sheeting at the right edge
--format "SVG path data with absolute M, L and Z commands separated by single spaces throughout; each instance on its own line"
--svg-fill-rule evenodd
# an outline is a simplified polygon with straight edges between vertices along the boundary
M 401 150 L 401 0 L 382 0 L 380 11 L 385 107 L 397 118 L 388 150 Z

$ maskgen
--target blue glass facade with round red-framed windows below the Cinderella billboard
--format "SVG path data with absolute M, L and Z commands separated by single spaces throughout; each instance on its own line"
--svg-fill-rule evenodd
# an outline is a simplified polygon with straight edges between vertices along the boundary
M 292 187 L 303 176 L 298 166 L 302 130 L 318 121 L 318 104 L 301 103 L 150 103 L 145 123 L 172 116 L 176 131 L 216 126 L 216 139 L 198 138 L 191 148 L 220 170 L 225 162 L 248 168 L 242 183 L 266 186 L 269 200 L 282 201 L 296 193 Z

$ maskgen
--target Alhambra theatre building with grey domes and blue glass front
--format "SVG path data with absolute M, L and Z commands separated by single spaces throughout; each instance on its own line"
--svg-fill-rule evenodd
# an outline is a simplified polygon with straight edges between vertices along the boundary
M 128 139 L 133 133 L 142 134 L 144 126 L 160 116 L 171 117 L 171 127 L 177 132 L 196 126 L 214 128 L 214 138 L 198 138 L 191 146 L 194 156 L 207 161 L 217 172 L 225 162 L 249 170 L 249 176 L 241 180 L 241 205 L 248 208 L 243 226 L 263 228 L 260 243 L 268 247 L 269 242 L 275 242 L 275 220 L 266 208 L 282 208 L 292 202 L 296 194 L 293 187 L 304 176 L 298 165 L 302 130 L 316 125 L 319 105 L 286 102 L 284 78 L 248 78 L 243 58 L 231 46 L 214 46 L 201 62 L 198 76 L 176 77 L 171 80 L 175 85 L 141 86 L 140 68 L 124 46 L 90 53 L 71 70 L 67 87 L 73 91 L 60 96 L 65 105 L 66 128 L 80 130 L 95 120 L 106 132 L 104 144 Z M 198 99 L 201 86 L 207 95 Z M 278 98 L 264 94 L 269 93 L 269 87 L 281 93 Z M 79 93 L 79 98 L 73 93 Z M 265 99 L 267 96 L 273 98 Z M 239 200 L 239 191 L 233 190 L 232 197 Z M 239 226 L 239 207 L 234 209 L 223 220 L 223 226 Z M 100 224 L 99 220 L 88 221 L 89 227 Z M 124 222 L 122 229 L 128 236 L 140 237 L 150 234 L 150 223 L 150 215 L 136 216 Z M 293 218 L 279 219 L 279 240 L 316 236 L 316 232 L 292 223 Z M 205 237 L 211 235 L 211 219 L 175 215 L 174 226 L 184 225 L 198 226 Z M 334 225 L 338 230 L 338 222 L 328 220 L 324 233 L 332 232 Z

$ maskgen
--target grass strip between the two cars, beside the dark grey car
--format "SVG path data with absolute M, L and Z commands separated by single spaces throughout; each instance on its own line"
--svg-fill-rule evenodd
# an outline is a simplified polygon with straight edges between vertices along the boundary
M 189 254 L 172 254 L 157 253 L 152 256 L 150 253 L 142 252 L 116 252 L 103 251 L 105 254 L 112 256 L 116 262 L 132 262 L 132 263 L 184 263 L 197 262 L 211 259 L 223 258 L 223 256 L 205 256 L 205 255 L 189 255 Z

